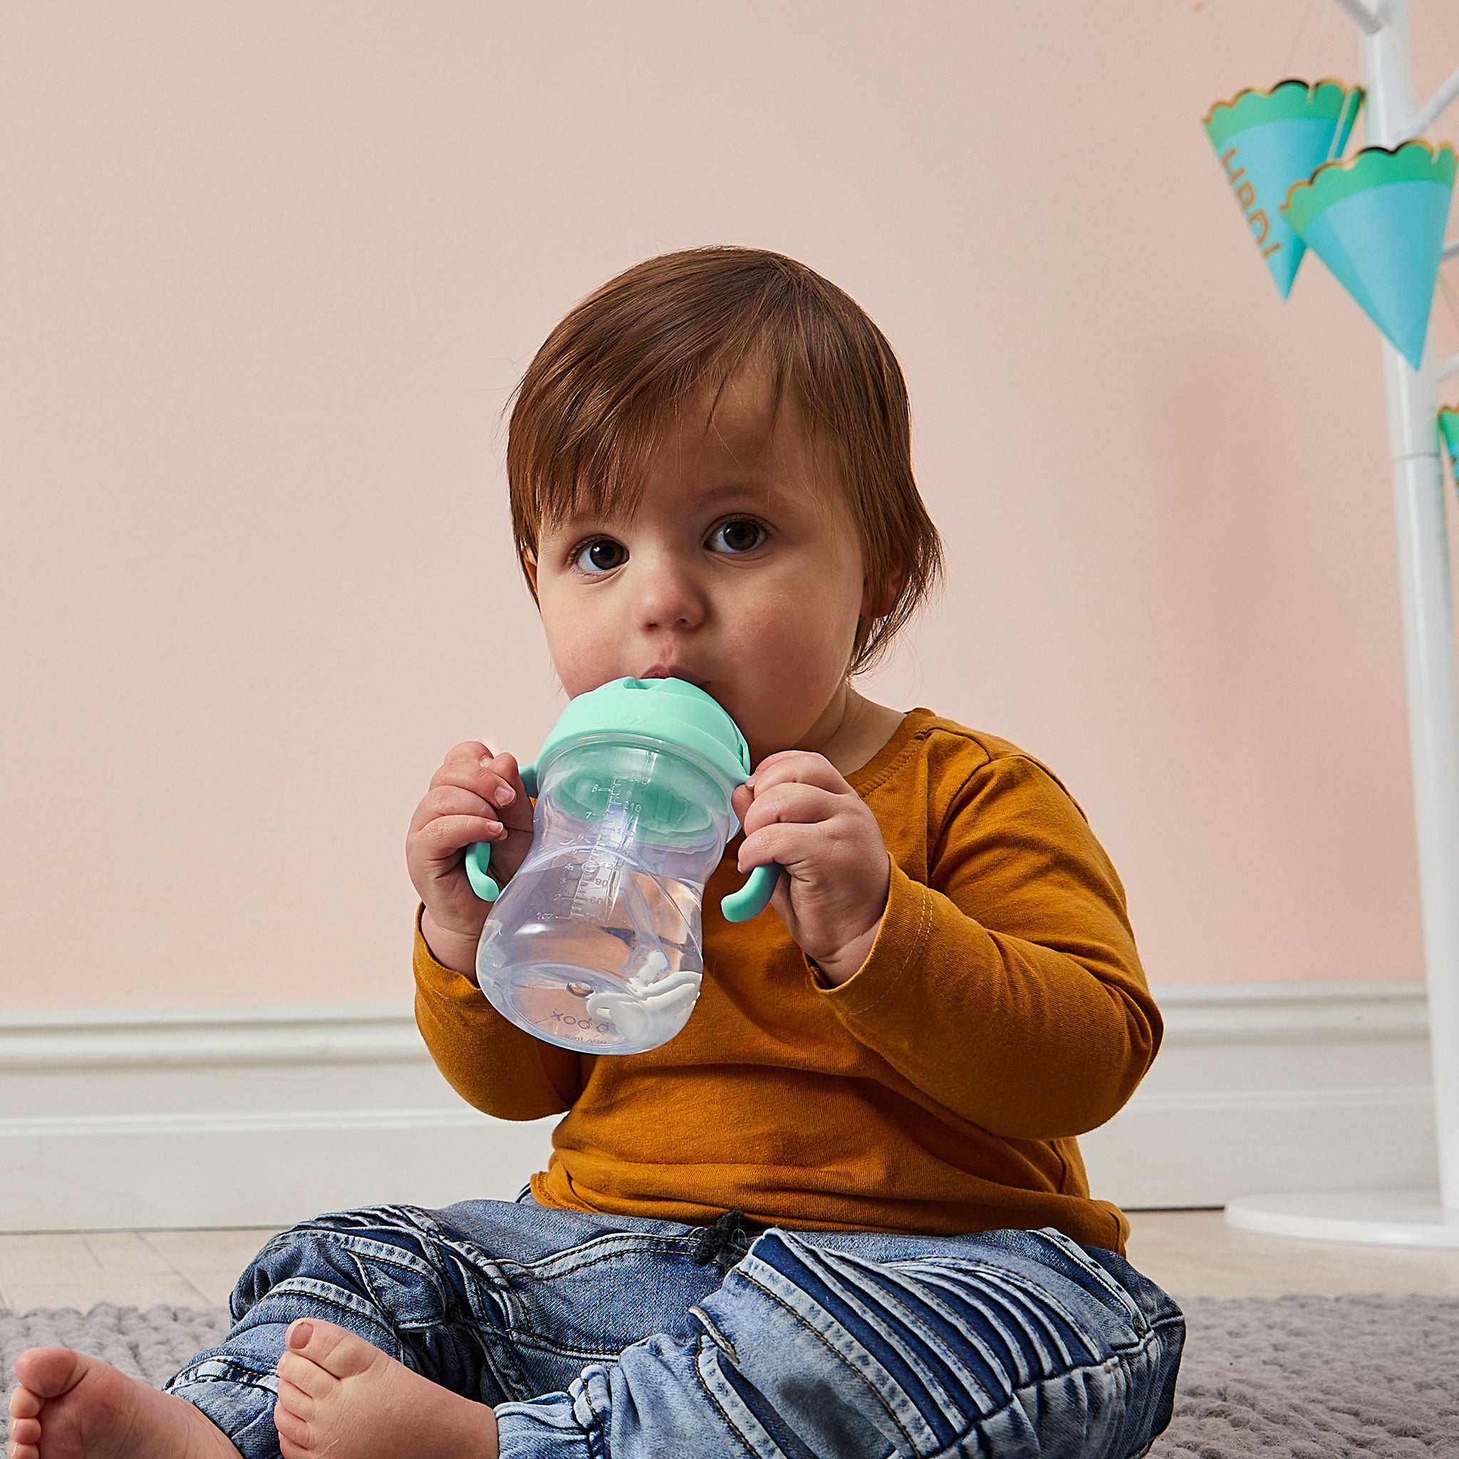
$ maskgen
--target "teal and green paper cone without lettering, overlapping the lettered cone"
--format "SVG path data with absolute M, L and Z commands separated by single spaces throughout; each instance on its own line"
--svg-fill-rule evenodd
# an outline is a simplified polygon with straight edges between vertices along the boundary
M 1447 142 L 1437 150 L 1405 142 L 1317 168 L 1282 206 L 1282 217 L 1414 369 L 1424 357 L 1453 188 Z

